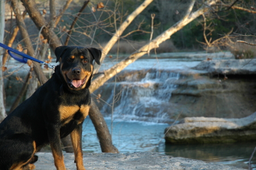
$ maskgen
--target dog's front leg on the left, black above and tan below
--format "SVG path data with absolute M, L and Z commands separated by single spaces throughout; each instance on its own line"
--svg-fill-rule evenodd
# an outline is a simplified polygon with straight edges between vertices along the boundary
M 47 131 L 55 167 L 57 170 L 66 170 L 64 157 L 61 150 L 60 128 L 56 125 L 48 125 Z

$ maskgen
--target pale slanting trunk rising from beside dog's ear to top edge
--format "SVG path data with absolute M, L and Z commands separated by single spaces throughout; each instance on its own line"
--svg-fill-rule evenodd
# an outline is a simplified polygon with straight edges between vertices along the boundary
M 103 63 L 106 55 L 108 55 L 110 49 L 113 47 L 113 45 L 117 42 L 117 40 L 120 38 L 120 36 L 123 34 L 123 31 L 130 25 L 131 22 L 141 14 L 141 12 L 146 9 L 148 5 L 154 0 L 145 0 L 137 9 L 133 11 L 129 16 L 127 16 L 125 22 L 121 24 L 121 26 L 118 28 L 118 30 L 115 32 L 115 34 L 112 36 L 112 38 L 109 40 L 109 42 L 105 45 L 105 47 L 102 49 L 102 56 L 100 62 Z M 94 64 L 93 73 L 97 73 L 100 69 L 100 65 Z

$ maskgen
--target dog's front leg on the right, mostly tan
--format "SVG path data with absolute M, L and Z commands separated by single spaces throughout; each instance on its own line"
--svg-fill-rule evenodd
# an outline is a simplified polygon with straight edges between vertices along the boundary
M 71 132 L 71 140 L 73 149 L 75 152 L 75 161 L 77 170 L 85 170 L 84 163 L 82 161 L 82 123 L 78 125 L 75 130 Z

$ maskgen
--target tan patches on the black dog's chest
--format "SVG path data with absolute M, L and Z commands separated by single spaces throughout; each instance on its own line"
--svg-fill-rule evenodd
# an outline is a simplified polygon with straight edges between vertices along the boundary
M 60 121 L 63 124 L 75 119 L 80 124 L 89 114 L 89 105 L 59 106 Z

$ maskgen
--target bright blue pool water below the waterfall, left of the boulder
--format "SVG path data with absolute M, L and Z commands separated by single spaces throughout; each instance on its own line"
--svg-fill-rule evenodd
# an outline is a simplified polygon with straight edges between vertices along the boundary
M 107 118 L 106 123 L 110 130 L 111 120 Z M 166 123 L 115 120 L 113 123 L 112 141 L 121 153 L 144 151 L 163 153 L 163 132 L 166 127 L 168 127 Z M 101 152 L 96 131 L 89 118 L 85 119 L 82 136 L 83 151 Z

